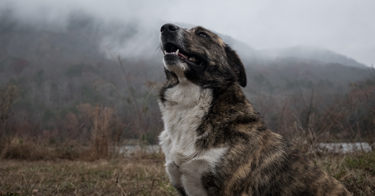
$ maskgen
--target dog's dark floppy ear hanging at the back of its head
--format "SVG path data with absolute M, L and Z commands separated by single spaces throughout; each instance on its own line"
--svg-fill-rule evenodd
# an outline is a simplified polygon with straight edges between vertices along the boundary
M 234 51 L 229 45 L 225 45 L 225 53 L 228 57 L 229 66 L 233 66 L 236 70 L 236 74 L 238 76 L 238 81 L 242 87 L 246 87 L 246 72 L 245 66 L 243 66 L 240 57 L 238 56 L 237 52 Z

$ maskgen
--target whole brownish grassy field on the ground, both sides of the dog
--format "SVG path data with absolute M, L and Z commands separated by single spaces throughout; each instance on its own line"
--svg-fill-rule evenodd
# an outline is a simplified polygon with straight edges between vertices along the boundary
M 0 160 L 0 195 L 177 195 L 160 154 L 93 162 Z M 321 157 L 354 195 L 375 195 L 375 153 Z

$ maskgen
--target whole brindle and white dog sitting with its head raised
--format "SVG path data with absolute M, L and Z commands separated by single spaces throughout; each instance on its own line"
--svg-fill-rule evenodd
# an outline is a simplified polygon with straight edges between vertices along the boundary
M 159 91 L 160 146 L 183 196 L 351 195 L 246 99 L 236 52 L 202 27 L 160 29 L 166 83 Z

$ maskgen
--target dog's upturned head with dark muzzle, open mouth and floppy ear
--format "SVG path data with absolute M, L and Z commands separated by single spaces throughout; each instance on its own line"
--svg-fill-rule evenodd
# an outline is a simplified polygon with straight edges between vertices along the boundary
M 200 26 L 187 29 L 175 24 L 165 24 L 160 31 L 163 63 L 169 81 L 187 79 L 208 88 L 236 82 L 246 86 L 242 61 L 217 34 Z

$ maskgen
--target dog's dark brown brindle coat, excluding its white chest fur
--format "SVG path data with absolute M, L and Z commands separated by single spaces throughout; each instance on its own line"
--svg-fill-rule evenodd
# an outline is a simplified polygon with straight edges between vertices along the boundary
M 207 37 L 199 36 L 201 32 Z M 166 168 L 180 195 L 201 194 L 187 189 L 222 196 L 351 195 L 283 136 L 266 127 L 242 91 L 246 75 L 239 56 L 219 36 L 199 26 L 178 27 L 160 36 L 160 41 L 162 51 L 166 43 L 173 43 L 207 61 L 203 68 L 190 66 L 184 72 L 190 82 L 210 89 L 212 95 L 210 108 L 195 130 L 198 139 L 194 146 L 198 153 L 227 149 L 214 165 L 207 160 L 189 162 L 192 157 L 176 155 L 176 161 Z M 164 58 L 164 62 L 174 64 L 176 59 Z M 166 91 L 180 83 L 176 73 L 165 69 L 165 74 L 166 83 L 159 91 L 160 108 L 175 104 L 168 103 Z

